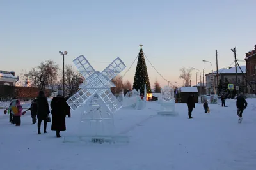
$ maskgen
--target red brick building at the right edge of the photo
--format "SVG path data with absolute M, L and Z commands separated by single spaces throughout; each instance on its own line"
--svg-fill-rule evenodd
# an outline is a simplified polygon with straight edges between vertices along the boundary
M 246 79 L 256 91 L 256 45 L 254 46 L 254 50 L 246 53 L 244 60 L 246 61 Z M 246 87 L 247 93 L 253 94 L 253 90 L 250 88 L 250 86 L 246 85 Z

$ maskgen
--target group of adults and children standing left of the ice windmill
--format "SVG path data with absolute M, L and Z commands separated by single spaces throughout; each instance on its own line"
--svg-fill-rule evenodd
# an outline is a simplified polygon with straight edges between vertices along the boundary
M 62 96 L 62 91 L 58 90 L 58 95 L 53 97 L 49 110 L 49 104 L 47 97 L 45 97 L 44 91 L 40 91 L 38 97 L 34 99 L 28 110 L 31 111 L 32 124 L 37 123 L 38 134 L 41 134 L 41 124 L 44 122 L 44 133 L 47 133 L 47 122 L 51 122 L 50 113 L 52 114 L 52 125 L 51 130 L 56 131 L 56 137 L 60 138 L 60 131 L 66 130 L 66 115 L 70 117 L 70 107 L 66 103 L 66 99 Z M 22 106 L 20 100 L 13 98 L 10 103 L 10 122 L 20 126 L 20 117 L 26 113 L 22 112 Z M 37 120 L 36 120 L 37 116 Z

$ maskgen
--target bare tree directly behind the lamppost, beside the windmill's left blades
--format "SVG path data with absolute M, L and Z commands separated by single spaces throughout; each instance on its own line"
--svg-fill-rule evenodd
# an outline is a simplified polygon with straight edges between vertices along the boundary
M 79 85 L 83 83 L 84 78 L 78 71 L 74 69 L 74 67 L 72 67 L 72 65 L 65 65 L 64 72 L 65 94 L 69 94 L 69 96 L 72 96 L 79 90 Z M 62 89 L 62 85 L 63 77 L 61 73 L 60 82 L 58 83 L 58 89 Z

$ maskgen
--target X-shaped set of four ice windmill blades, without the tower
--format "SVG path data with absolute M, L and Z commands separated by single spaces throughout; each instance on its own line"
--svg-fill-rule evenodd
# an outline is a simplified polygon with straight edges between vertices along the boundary
M 95 94 L 106 104 L 110 113 L 115 113 L 115 111 L 122 108 L 122 105 L 110 90 L 111 87 L 115 87 L 111 79 L 115 78 L 126 67 L 119 57 L 111 62 L 101 73 L 95 71 L 83 55 L 74 59 L 73 62 L 85 79 L 80 85 L 81 89 L 67 100 L 73 111 L 86 104 L 88 99 Z

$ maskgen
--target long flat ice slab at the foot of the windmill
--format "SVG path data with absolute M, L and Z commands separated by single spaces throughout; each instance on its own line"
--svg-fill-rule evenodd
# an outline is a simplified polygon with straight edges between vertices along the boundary
M 65 136 L 63 143 L 77 143 L 77 142 L 85 142 L 85 143 L 129 143 L 129 137 L 125 135 L 116 135 L 116 136 Z

